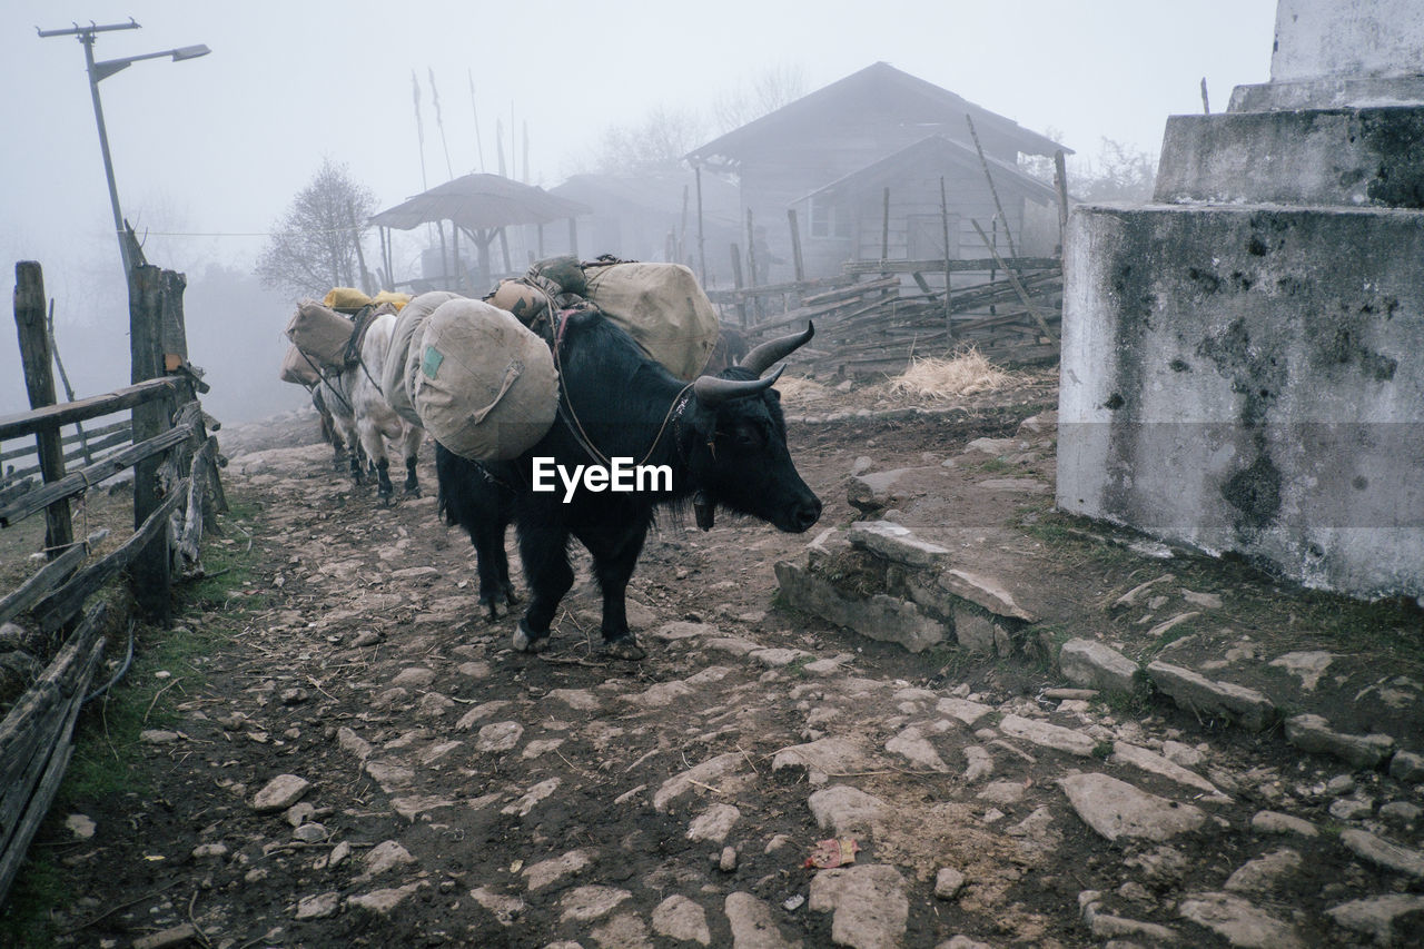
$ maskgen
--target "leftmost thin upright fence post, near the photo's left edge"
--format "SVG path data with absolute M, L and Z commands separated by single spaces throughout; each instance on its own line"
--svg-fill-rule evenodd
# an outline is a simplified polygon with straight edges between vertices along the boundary
M 30 396 L 30 408 L 54 405 L 54 372 L 50 368 L 53 355 L 44 313 L 44 271 L 37 261 L 20 261 L 14 265 L 14 326 L 20 335 L 20 362 L 24 365 L 24 388 Z M 36 435 L 36 447 L 44 482 L 64 477 L 60 426 Z M 44 546 L 53 560 L 64 553 L 64 547 L 74 543 L 68 499 L 50 504 L 44 512 Z

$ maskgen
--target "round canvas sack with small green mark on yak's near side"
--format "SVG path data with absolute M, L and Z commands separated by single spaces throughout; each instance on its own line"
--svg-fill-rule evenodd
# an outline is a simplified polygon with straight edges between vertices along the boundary
M 456 455 L 507 460 L 554 425 L 554 356 L 513 313 L 447 301 L 426 321 L 412 400 L 424 429 Z

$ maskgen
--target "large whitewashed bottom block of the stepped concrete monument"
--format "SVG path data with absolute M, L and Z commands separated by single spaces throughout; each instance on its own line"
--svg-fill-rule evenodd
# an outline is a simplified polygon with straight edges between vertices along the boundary
M 1424 215 L 1079 207 L 1058 504 L 1424 596 Z

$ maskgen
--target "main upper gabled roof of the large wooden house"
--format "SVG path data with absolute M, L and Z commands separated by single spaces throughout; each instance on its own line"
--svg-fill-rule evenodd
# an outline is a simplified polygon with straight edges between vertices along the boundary
M 964 121 L 964 117 L 970 115 L 985 141 L 1002 142 L 1030 155 L 1052 155 L 1058 150 L 1072 154 L 1071 148 L 1064 148 L 1011 118 L 903 73 L 889 63 L 874 63 L 713 138 L 688 152 L 686 160 L 693 164 L 735 168 L 748 152 L 768 142 L 793 135 L 800 128 L 836 124 L 846 115 L 857 113 L 873 114 L 880 121 L 890 118 L 906 128 L 920 127 L 921 131 L 937 131 L 964 141 L 970 140 Z

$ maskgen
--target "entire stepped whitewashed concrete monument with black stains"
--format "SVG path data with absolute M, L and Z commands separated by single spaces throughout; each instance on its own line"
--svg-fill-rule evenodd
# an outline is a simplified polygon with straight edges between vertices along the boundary
M 1272 83 L 1074 211 L 1058 504 L 1424 597 L 1424 17 L 1282 0 Z

